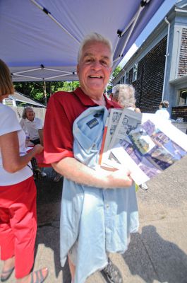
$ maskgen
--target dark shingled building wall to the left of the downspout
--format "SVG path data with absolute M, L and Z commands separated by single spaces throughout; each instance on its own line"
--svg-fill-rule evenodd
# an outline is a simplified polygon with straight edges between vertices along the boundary
M 135 88 L 136 105 L 142 112 L 155 112 L 162 100 L 167 36 L 138 62 Z

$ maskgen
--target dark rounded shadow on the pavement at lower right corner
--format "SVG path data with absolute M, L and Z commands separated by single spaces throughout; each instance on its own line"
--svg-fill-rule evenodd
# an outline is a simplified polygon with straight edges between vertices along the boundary
M 159 236 L 155 226 L 144 226 L 142 233 L 132 234 L 123 259 L 131 275 L 138 275 L 146 283 L 154 280 L 162 283 L 187 282 L 186 253 Z

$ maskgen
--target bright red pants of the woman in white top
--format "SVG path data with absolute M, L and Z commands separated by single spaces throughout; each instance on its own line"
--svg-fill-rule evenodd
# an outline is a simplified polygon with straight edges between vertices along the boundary
M 36 186 L 32 177 L 0 186 L 1 260 L 15 255 L 16 278 L 30 273 L 37 231 Z

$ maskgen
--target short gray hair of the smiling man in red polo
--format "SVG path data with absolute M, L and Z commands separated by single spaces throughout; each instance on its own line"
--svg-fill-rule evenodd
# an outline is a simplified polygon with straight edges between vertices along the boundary
M 107 37 L 104 37 L 102 35 L 99 35 L 99 33 L 90 33 L 89 35 L 86 35 L 83 41 L 80 43 L 80 47 L 78 50 L 78 63 L 80 62 L 80 58 L 83 54 L 83 48 L 85 47 L 86 44 L 89 42 L 102 42 L 107 47 L 109 47 L 109 50 L 111 52 L 111 64 L 112 64 L 112 45 L 110 40 L 107 39 Z

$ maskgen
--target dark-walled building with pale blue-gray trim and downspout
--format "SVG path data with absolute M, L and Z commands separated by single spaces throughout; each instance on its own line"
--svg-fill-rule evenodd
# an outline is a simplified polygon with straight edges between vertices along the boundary
M 130 83 L 142 112 L 169 100 L 171 117 L 187 122 L 187 1 L 178 1 L 112 81 Z

